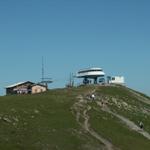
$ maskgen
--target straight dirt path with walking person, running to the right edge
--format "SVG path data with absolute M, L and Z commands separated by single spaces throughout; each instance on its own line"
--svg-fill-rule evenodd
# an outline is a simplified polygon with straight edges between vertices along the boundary
M 101 106 L 101 103 L 97 101 L 97 104 L 99 106 Z M 144 130 L 142 130 L 140 127 L 138 127 L 134 122 L 130 121 L 129 119 L 119 115 L 119 114 L 116 114 L 114 112 L 112 112 L 111 110 L 109 110 L 109 108 L 107 106 L 103 107 L 102 108 L 103 111 L 109 113 L 109 114 L 112 114 L 113 116 L 117 117 L 119 120 L 121 120 L 123 123 L 125 123 L 131 130 L 134 130 L 140 134 L 142 134 L 144 137 L 146 137 L 147 139 L 150 140 L 150 134 Z

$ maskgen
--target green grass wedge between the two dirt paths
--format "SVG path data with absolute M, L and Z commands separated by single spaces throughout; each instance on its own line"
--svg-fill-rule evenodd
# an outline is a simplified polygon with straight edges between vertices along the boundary
M 100 110 L 90 112 L 91 127 L 121 150 L 149 150 L 150 141 L 129 130 L 117 118 Z

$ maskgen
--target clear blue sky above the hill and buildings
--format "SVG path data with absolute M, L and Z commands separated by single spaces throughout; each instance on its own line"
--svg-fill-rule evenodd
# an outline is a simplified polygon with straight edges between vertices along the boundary
M 149 0 L 0 0 L 0 94 L 45 74 L 63 87 L 90 66 L 150 95 Z

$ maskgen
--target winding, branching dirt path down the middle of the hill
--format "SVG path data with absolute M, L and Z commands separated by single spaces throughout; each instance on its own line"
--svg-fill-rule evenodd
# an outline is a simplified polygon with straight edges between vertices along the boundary
M 113 145 L 90 127 L 90 117 L 88 115 L 88 111 L 91 110 L 91 106 L 87 105 L 87 101 L 82 96 L 78 96 L 78 101 L 74 104 L 73 109 L 76 111 L 76 120 L 83 127 L 83 129 L 92 137 L 103 143 L 107 150 L 113 150 Z M 84 118 L 83 123 L 79 121 L 81 116 Z

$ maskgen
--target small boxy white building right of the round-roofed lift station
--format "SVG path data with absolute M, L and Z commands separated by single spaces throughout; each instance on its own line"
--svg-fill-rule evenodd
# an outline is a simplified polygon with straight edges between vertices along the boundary
M 123 76 L 112 76 L 107 77 L 108 84 L 125 84 L 125 79 Z

